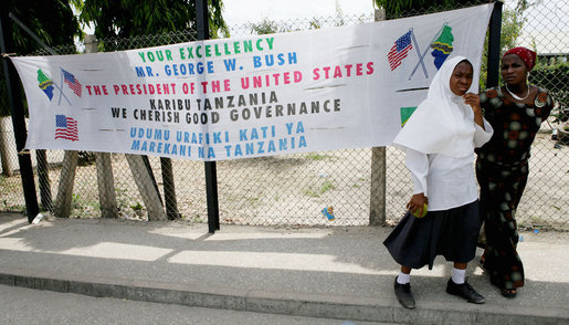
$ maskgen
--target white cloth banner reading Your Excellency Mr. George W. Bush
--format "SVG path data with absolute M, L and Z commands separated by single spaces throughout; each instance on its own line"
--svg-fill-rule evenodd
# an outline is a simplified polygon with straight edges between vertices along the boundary
M 384 146 L 447 56 L 478 80 L 493 4 L 83 55 L 12 57 L 27 148 L 221 160 Z

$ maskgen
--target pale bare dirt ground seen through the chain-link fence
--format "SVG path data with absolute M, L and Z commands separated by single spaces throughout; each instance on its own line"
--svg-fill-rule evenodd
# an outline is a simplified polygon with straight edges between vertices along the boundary
M 569 148 L 555 148 L 555 144 L 545 126 L 533 147 L 530 177 L 517 211 L 518 223 L 523 228 L 569 230 Z M 62 155 L 50 151 L 50 157 Z M 145 220 L 144 202 L 124 155 L 114 154 L 112 157 L 119 217 Z M 164 195 L 159 158 L 150 157 L 150 164 Z M 370 166 L 370 148 L 218 161 L 220 220 L 223 223 L 293 227 L 368 224 Z M 183 220 L 207 221 L 203 162 L 172 160 L 172 167 L 178 209 Z M 60 168 L 50 170 L 54 200 Z M 101 216 L 95 168 L 95 165 L 77 167 L 73 217 Z M 3 202 L 0 210 L 23 209 L 18 176 L 0 179 L 0 203 Z M 390 223 L 402 217 L 411 192 L 412 182 L 404 167 L 404 155 L 389 147 L 386 212 Z M 334 221 L 328 221 L 320 212 L 328 206 L 334 207 Z M 138 211 L 138 207 L 143 209 Z

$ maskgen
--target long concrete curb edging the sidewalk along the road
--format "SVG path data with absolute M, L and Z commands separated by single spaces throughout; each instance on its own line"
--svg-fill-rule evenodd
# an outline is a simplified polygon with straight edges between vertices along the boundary
M 61 276 L 61 275 L 60 275 Z M 554 308 L 504 307 L 466 303 L 425 302 L 405 310 L 392 301 L 341 295 L 298 294 L 131 281 L 124 279 L 65 275 L 40 277 L 29 270 L 0 268 L 0 284 L 113 297 L 150 303 L 177 304 L 254 313 L 325 317 L 361 322 L 404 324 L 567 324 L 567 311 Z

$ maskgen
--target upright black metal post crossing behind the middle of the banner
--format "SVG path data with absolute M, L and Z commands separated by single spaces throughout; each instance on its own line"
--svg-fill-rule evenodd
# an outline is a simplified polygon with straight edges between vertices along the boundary
M 208 20 L 208 1 L 196 0 L 196 24 L 198 27 L 198 40 L 210 38 Z M 208 196 L 208 226 L 209 232 L 219 230 L 219 200 L 218 200 L 218 171 L 215 161 L 206 161 L 206 195 Z

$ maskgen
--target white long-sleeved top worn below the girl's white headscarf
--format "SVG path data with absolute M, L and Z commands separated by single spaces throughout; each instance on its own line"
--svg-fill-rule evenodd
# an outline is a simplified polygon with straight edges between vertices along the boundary
M 492 126 L 484 119 L 484 129 L 475 125 L 474 147 L 487 143 Z M 475 201 L 478 188 L 474 175 L 474 153 L 455 158 L 443 154 L 423 154 L 405 148 L 405 165 L 413 179 L 413 195 L 429 198 L 429 211 L 449 210 Z

